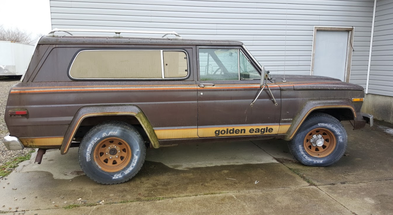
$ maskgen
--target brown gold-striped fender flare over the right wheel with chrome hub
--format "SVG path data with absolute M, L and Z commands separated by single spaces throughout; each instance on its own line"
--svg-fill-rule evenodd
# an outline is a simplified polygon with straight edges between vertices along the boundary
M 329 104 L 331 103 L 331 104 Z M 285 134 L 285 140 L 291 140 L 297 131 L 302 126 L 303 122 L 307 119 L 309 114 L 317 109 L 326 109 L 326 108 L 346 108 L 350 109 L 353 113 L 354 119 L 357 118 L 357 113 L 355 108 L 346 101 L 331 101 L 331 102 L 323 102 L 323 101 L 309 101 L 304 105 L 304 107 L 299 111 L 296 117 L 293 119 L 291 126 Z

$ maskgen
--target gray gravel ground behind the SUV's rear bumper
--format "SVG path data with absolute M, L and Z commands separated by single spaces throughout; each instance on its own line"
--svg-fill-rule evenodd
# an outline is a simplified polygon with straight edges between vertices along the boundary
M 8 151 L 2 143 L 2 138 L 8 134 L 8 129 L 4 122 L 4 111 L 7 105 L 9 89 L 18 82 L 19 79 L 0 78 L 0 166 L 17 157 L 27 155 L 31 151 L 31 149 Z

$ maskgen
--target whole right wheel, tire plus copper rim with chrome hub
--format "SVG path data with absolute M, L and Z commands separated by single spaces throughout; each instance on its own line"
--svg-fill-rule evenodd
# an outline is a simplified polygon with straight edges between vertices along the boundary
M 324 154 L 318 154 L 319 152 L 315 151 L 317 150 L 315 148 L 318 148 L 318 146 L 312 147 L 309 142 L 314 136 L 312 134 L 319 135 L 318 133 L 324 133 L 326 134 L 324 136 L 331 137 L 327 138 L 330 141 L 329 144 L 331 144 L 328 146 L 329 148 L 325 146 L 328 143 L 326 139 L 324 140 L 324 145 L 319 147 L 320 151 L 325 150 Z M 289 141 L 288 147 L 292 155 L 304 165 L 329 166 L 344 155 L 347 148 L 347 140 L 348 137 L 344 127 L 335 117 L 326 113 L 312 113 L 304 121 L 298 133 Z M 322 149 L 324 146 L 325 149 Z

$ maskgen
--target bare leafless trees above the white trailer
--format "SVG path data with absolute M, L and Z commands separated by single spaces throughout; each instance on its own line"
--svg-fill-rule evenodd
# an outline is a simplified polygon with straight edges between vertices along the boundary
M 36 39 L 31 36 L 31 33 L 19 28 L 4 28 L 0 25 L 0 40 L 14 41 L 18 43 L 33 44 Z

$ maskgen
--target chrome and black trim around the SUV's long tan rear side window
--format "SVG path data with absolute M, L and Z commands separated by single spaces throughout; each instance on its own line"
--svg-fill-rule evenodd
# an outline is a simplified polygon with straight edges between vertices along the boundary
M 82 52 L 92 52 L 92 51 L 160 51 L 161 53 L 161 72 L 162 72 L 162 77 L 164 77 L 164 51 L 177 51 L 177 52 L 183 52 L 186 54 L 187 57 L 187 76 L 182 77 L 182 78 L 75 78 L 71 76 L 71 68 L 72 65 L 75 62 L 75 59 L 78 57 L 78 55 Z M 146 80 L 146 81 L 167 81 L 167 80 L 186 80 L 190 78 L 191 72 L 190 72 L 190 57 L 189 54 L 186 50 L 183 49 L 81 49 L 78 50 L 78 52 L 74 55 L 72 58 L 72 61 L 70 65 L 68 66 L 67 69 L 67 75 L 71 80 L 75 81 L 101 81 L 101 80 L 110 80 L 110 81 L 137 81 L 137 80 Z

